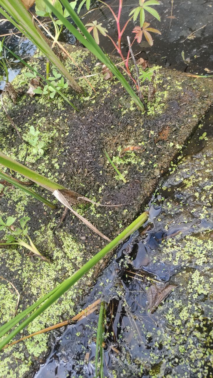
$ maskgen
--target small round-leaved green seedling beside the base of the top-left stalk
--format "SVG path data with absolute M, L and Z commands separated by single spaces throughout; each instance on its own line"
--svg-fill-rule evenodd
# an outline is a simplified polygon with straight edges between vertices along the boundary
M 54 68 L 53 76 L 48 77 L 48 80 L 51 81 L 51 84 L 53 84 L 59 91 L 68 87 L 68 84 L 64 82 L 64 77 L 61 77 L 61 73 L 58 73 Z M 49 95 L 50 98 L 54 98 L 56 89 L 47 84 L 43 89 L 41 87 L 37 87 L 33 92 L 40 95 Z

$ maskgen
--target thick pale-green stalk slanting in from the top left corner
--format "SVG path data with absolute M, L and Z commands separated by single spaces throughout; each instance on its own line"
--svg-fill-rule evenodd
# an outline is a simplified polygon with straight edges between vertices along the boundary
M 0 5 L 6 10 L 6 12 L 9 13 L 9 15 L 1 7 L 0 13 L 2 13 L 3 16 L 9 20 L 9 22 L 11 22 L 27 38 L 29 38 L 31 42 L 33 42 L 34 45 L 36 45 L 39 50 L 47 56 L 55 67 L 58 67 L 63 76 L 65 76 L 70 82 L 70 85 L 74 90 L 82 93 L 81 87 L 79 87 L 78 83 L 73 79 L 72 75 L 62 64 L 61 60 L 56 56 L 56 54 L 54 54 L 44 34 L 36 25 L 34 25 L 31 15 L 26 10 L 25 6 L 23 6 L 21 0 L 1 0 Z

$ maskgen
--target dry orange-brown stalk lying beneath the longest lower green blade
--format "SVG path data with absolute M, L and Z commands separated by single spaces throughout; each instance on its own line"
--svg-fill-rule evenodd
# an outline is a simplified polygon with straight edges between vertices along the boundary
M 2 277 L 0 277 L 0 278 L 2 278 Z M 3 278 L 3 279 L 5 279 L 5 278 Z M 40 333 L 49 332 L 49 331 L 54 330 L 56 328 L 64 327 L 65 325 L 68 325 L 71 322 L 79 321 L 80 319 L 84 318 L 85 316 L 90 315 L 93 311 L 97 310 L 98 304 L 100 302 L 101 302 L 101 300 L 97 299 L 97 301 L 93 302 L 91 305 L 89 305 L 88 307 L 84 308 L 84 310 L 82 310 L 79 314 L 73 316 L 71 319 L 65 320 L 64 322 L 61 322 L 61 323 L 57 323 L 57 324 L 51 325 L 50 327 L 44 328 L 43 330 L 40 330 L 40 331 L 31 333 L 30 335 L 24 336 L 24 337 L 20 338 L 19 340 L 11 342 L 10 344 L 6 344 L 3 349 L 5 349 L 7 347 L 10 347 L 11 345 L 17 344 L 17 342 L 19 342 L 19 341 L 23 341 L 25 339 L 28 339 L 28 338 L 36 336 L 36 335 L 40 335 Z

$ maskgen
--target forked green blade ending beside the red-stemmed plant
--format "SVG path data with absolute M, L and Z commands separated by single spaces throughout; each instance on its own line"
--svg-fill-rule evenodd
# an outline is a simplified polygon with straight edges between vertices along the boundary
M 138 106 L 138 108 L 142 111 L 144 111 L 144 106 L 138 96 L 135 94 L 134 90 L 130 87 L 129 83 L 126 81 L 124 76 L 120 73 L 118 68 L 110 61 L 110 59 L 103 53 L 100 46 L 95 42 L 91 34 L 87 31 L 86 27 L 82 23 L 82 21 L 79 19 L 76 12 L 72 9 L 70 4 L 67 0 L 61 0 L 62 5 L 64 5 L 65 9 L 69 12 L 70 16 L 72 17 L 73 21 L 75 22 L 76 26 L 80 29 L 81 33 L 84 34 L 82 36 L 81 33 L 67 20 L 65 17 L 63 17 L 56 8 L 48 1 L 44 0 L 45 4 L 47 4 L 51 11 L 56 15 L 58 19 L 62 21 L 64 26 L 86 47 L 88 48 L 91 53 L 93 53 L 101 62 L 103 62 L 109 69 L 112 71 L 112 73 L 117 77 L 117 79 L 121 82 L 123 87 L 127 90 L 129 95 L 134 100 L 135 104 Z

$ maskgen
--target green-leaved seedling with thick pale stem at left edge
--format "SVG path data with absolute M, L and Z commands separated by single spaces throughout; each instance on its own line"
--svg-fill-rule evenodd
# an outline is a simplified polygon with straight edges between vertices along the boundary
M 0 243 L 1 245 L 20 245 L 22 247 L 25 247 L 29 249 L 33 254 L 36 256 L 39 256 L 42 260 L 49 261 L 46 257 L 42 256 L 42 254 L 37 250 L 36 246 L 34 245 L 33 241 L 31 240 L 30 236 L 28 235 L 28 226 L 26 223 L 28 220 L 30 220 L 30 217 L 22 217 L 19 219 L 21 228 L 14 228 L 12 224 L 15 222 L 16 218 L 8 217 L 6 220 L 6 223 L 3 221 L 3 219 L 0 217 L 0 231 L 3 229 L 8 229 L 10 234 L 6 234 L 5 238 L 7 241 L 5 243 Z M 22 237 L 22 239 L 21 239 Z M 23 238 L 27 237 L 30 244 L 23 241 Z

